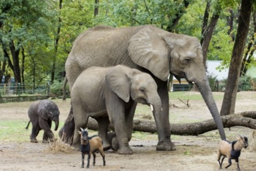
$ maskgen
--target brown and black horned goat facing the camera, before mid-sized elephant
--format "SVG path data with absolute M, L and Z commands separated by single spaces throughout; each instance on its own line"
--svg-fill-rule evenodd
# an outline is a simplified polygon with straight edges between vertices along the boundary
M 84 167 L 84 156 L 85 154 L 88 154 L 87 158 L 87 168 L 89 168 L 90 165 L 90 158 L 91 154 L 93 154 L 93 165 L 95 165 L 95 158 L 96 158 L 96 152 L 99 152 L 100 155 L 103 158 L 103 165 L 106 165 L 105 161 L 105 154 L 103 152 L 103 147 L 102 147 L 102 140 L 99 136 L 88 136 L 88 131 L 87 129 L 82 129 L 82 131 L 78 131 L 79 134 L 81 135 L 81 152 L 82 152 L 82 167 Z

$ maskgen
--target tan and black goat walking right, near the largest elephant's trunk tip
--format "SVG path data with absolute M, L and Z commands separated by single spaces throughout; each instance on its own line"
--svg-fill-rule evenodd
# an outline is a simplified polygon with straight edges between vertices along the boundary
M 226 140 L 222 140 L 217 147 L 217 160 L 219 163 L 219 168 L 221 169 L 224 158 L 228 158 L 228 165 L 225 168 L 228 168 L 232 162 L 231 159 L 235 159 L 237 163 L 237 170 L 240 171 L 238 158 L 241 154 L 242 148 L 248 147 L 248 139 L 245 136 L 240 136 L 236 141 L 228 142 Z M 221 156 L 223 158 L 221 159 Z M 220 162 L 221 159 L 221 162 Z

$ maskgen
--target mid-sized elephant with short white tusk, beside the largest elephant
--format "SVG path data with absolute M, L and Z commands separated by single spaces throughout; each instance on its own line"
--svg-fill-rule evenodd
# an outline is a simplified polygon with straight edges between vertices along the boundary
M 154 118 L 161 115 L 161 99 L 154 79 L 147 73 L 123 65 L 115 67 L 91 67 L 76 79 L 71 90 L 74 112 L 74 141 L 80 145 L 80 127 L 84 128 L 88 118 L 98 121 L 99 136 L 104 148 L 107 140 L 109 120 L 117 135 L 119 154 L 132 154 L 129 141 L 132 138 L 135 104 L 150 105 Z M 156 122 L 156 123 L 159 123 Z

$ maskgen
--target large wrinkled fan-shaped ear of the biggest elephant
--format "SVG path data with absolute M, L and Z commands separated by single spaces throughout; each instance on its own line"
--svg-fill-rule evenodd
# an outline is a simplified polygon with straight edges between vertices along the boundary
M 169 46 L 163 39 L 162 31 L 145 26 L 130 39 L 128 53 L 134 63 L 166 81 L 170 73 L 170 57 Z

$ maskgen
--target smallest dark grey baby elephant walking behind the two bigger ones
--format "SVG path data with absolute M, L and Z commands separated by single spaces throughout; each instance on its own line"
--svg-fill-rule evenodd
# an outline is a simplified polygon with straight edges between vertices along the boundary
M 32 122 L 32 133 L 30 135 L 30 142 L 37 143 L 37 135 L 39 131 L 42 129 L 45 131 L 43 134 L 43 143 L 47 143 L 48 140 L 54 141 L 54 135 L 51 130 L 52 121 L 55 122 L 55 131 L 57 131 L 59 127 L 59 108 L 58 106 L 46 99 L 46 100 L 38 100 L 34 101 L 30 107 L 28 108 L 28 117 L 30 122 Z

